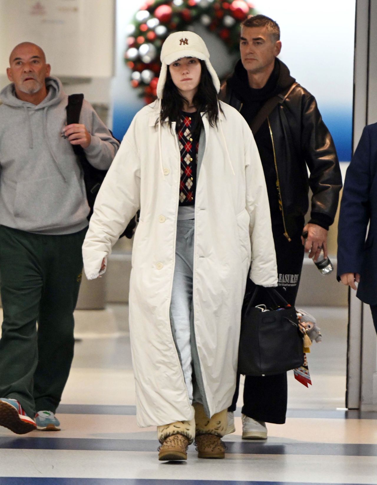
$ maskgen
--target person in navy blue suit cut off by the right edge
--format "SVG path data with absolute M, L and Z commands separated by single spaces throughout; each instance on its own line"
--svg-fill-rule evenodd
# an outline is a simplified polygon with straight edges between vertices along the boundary
M 377 123 L 364 128 L 347 169 L 338 225 L 338 280 L 370 305 L 377 332 L 376 172 Z

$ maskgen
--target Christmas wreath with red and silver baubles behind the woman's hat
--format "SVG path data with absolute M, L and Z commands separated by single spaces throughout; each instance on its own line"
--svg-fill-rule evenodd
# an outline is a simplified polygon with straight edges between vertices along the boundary
M 132 87 L 147 104 L 156 98 L 161 47 L 170 33 L 193 30 L 192 24 L 200 22 L 234 53 L 239 49 L 239 23 L 249 15 L 254 15 L 249 0 L 146 0 L 127 26 L 125 60 L 132 70 Z

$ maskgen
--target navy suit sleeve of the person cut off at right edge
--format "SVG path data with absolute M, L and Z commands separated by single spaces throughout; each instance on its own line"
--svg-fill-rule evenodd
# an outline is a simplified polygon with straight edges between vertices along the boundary
M 370 219 L 371 147 L 365 127 L 347 169 L 338 225 L 338 277 L 361 273 L 365 235 Z

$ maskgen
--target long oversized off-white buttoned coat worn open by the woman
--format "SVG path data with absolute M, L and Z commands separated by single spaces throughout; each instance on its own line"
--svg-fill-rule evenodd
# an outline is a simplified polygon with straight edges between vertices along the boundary
M 251 130 L 221 103 L 218 128 L 203 116 L 205 150 L 195 200 L 194 329 L 210 415 L 227 408 L 236 386 L 246 278 L 276 286 L 267 189 Z M 193 407 L 174 344 L 170 302 L 180 185 L 175 124 L 159 127 L 158 103 L 134 117 L 97 195 L 83 245 L 93 279 L 141 208 L 132 249 L 129 326 L 141 427 L 191 420 Z

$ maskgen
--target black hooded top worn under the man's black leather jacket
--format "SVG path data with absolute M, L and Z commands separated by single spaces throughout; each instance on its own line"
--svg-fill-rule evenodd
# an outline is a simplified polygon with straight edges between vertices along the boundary
M 295 82 L 295 78 L 289 74 L 288 67 L 280 59 L 276 59 L 274 70 L 265 86 L 261 89 L 254 89 L 250 87 L 247 71 L 243 67 L 241 60 L 239 60 L 232 77 L 227 82 L 234 90 L 236 97 L 242 102 L 240 113 L 247 123 L 251 125 L 252 120 L 266 103 L 267 99 L 286 90 Z M 265 173 L 271 223 L 274 229 L 280 231 L 280 226 L 283 226 L 283 218 L 279 203 L 274 153 L 267 119 L 257 131 L 254 138 Z

